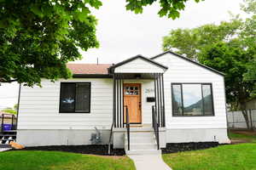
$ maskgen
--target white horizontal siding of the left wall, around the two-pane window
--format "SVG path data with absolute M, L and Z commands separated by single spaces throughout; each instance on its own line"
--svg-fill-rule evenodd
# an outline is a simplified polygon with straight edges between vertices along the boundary
M 91 82 L 90 113 L 59 113 L 61 82 Z M 43 88 L 22 87 L 18 129 L 109 129 L 112 124 L 113 81 L 79 78 L 42 82 Z

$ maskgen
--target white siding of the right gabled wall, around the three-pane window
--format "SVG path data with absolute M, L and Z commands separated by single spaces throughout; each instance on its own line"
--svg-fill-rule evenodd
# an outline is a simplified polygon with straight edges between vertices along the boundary
M 168 67 L 164 74 L 167 129 L 227 127 L 224 77 L 173 54 L 165 54 L 154 60 Z M 215 116 L 172 116 L 172 82 L 211 82 Z

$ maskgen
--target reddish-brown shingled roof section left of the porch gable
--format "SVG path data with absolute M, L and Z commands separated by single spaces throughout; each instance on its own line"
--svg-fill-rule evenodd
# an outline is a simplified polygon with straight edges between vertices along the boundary
M 67 64 L 74 75 L 108 75 L 111 64 Z

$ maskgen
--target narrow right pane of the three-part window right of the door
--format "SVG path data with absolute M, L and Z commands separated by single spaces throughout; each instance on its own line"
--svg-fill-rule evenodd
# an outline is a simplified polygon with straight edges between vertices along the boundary
M 202 85 L 205 115 L 213 115 L 211 85 Z

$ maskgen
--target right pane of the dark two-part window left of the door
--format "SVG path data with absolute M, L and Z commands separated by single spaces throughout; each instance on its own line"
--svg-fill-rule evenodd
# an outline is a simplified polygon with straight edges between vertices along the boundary
M 76 84 L 76 112 L 90 111 L 90 84 Z

